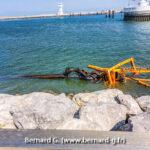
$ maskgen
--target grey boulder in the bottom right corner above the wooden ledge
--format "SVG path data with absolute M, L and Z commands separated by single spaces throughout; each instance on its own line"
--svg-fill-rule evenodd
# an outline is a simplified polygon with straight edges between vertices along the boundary
M 121 131 L 150 132 L 150 112 L 130 117 L 128 123 L 120 127 Z

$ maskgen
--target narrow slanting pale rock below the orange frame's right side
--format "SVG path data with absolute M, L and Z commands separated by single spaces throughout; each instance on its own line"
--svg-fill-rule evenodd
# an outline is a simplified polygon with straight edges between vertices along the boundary
M 139 114 L 142 113 L 141 108 L 138 103 L 133 99 L 131 95 L 119 94 L 116 97 L 119 104 L 122 104 L 127 107 L 129 114 Z

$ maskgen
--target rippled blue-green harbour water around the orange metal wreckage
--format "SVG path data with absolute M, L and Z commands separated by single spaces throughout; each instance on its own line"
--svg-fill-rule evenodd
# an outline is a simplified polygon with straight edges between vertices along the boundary
M 57 74 L 69 66 L 87 69 L 89 64 L 111 67 L 130 57 L 135 58 L 136 65 L 150 67 L 150 22 L 124 22 L 121 15 L 115 19 L 98 15 L 0 22 L 1 93 L 105 89 L 108 87 L 103 83 L 4 76 Z M 150 88 L 133 81 L 116 88 L 135 96 L 150 94 Z

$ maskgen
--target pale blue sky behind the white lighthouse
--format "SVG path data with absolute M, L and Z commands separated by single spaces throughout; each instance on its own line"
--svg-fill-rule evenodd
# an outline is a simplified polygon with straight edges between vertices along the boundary
M 64 4 L 64 12 L 87 12 L 120 9 L 129 0 L 0 0 L 0 16 L 23 16 L 57 13 L 57 4 Z

